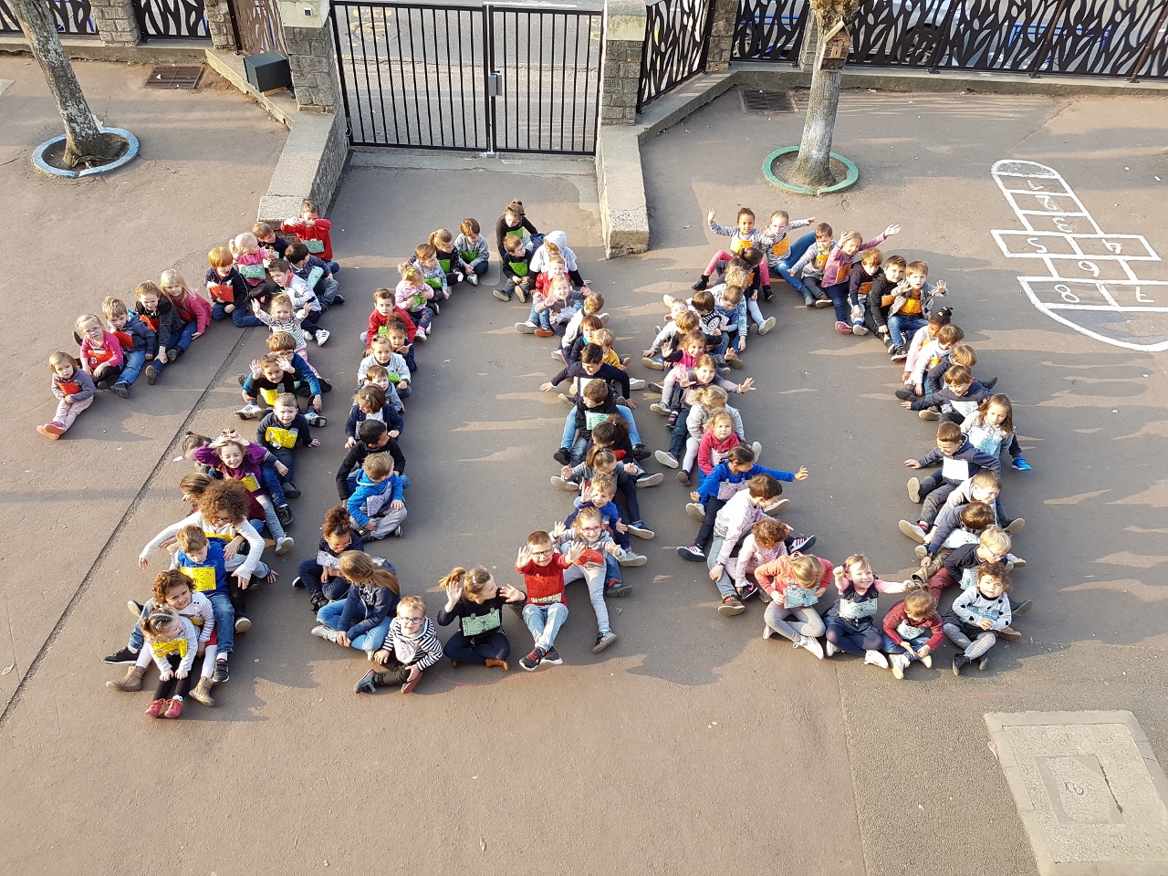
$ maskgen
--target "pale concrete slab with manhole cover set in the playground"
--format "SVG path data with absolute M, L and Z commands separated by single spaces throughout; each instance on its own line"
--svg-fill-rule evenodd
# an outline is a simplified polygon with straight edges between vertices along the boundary
M 1168 871 L 1168 781 L 1132 712 L 986 724 L 1042 876 Z

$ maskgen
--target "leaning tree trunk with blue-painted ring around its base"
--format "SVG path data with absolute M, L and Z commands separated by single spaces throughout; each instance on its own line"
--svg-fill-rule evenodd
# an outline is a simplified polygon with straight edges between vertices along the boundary
M 103 134 L 98 130 L 72 64 L 61 46 L 61 36 L 49 5 L 44 0 L 7 2 L 16 14 L 33 57 L 41 65 L 53 99 L 57 102 L 57 111 L 65 126 L 65 167 L 92 167 L 117 159 L 125 151 L 126 144 L 121 138 Z

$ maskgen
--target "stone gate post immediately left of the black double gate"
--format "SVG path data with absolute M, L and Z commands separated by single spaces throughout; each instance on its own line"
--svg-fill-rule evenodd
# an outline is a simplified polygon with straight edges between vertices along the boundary
M 285 54 L 301 112 L 336 111 L 341 88 L 328 13 L 328 0 L 280 0 Z

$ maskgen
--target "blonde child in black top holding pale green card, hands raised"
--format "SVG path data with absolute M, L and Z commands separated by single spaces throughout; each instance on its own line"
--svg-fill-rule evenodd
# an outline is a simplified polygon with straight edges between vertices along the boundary
M 439 584 L 446 591 L 446 605 L 438 611 L 438 626 L 458 621 L 458 630 L 443 647 L 451 666 L 477 663 L 508 672 L 510 641 L 503 632 L 502 607 L 523 602 L 527 593 L 498 584 L 481 565 L 470 571 L 457 566 Z

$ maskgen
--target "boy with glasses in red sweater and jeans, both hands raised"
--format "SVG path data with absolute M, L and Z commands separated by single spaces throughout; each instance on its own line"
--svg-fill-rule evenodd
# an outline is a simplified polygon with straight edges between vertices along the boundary
M 527 537 L 527 544 L 519 549 L 515 571 L 523 576 L 527 585 L 527 603 L 523 605 L 523 623 L 531 631 L 535 647 L 519 665 L 533 672 L 540 663 L 552 666 L 563 663 L 556 651 L 556 634 L 568 620 L 568 604 L 564 602 L 564 569 L 580 558 L 584 549 L 573 544 L 566 554 L 557 554 L 551 535 L 542 529 Z

